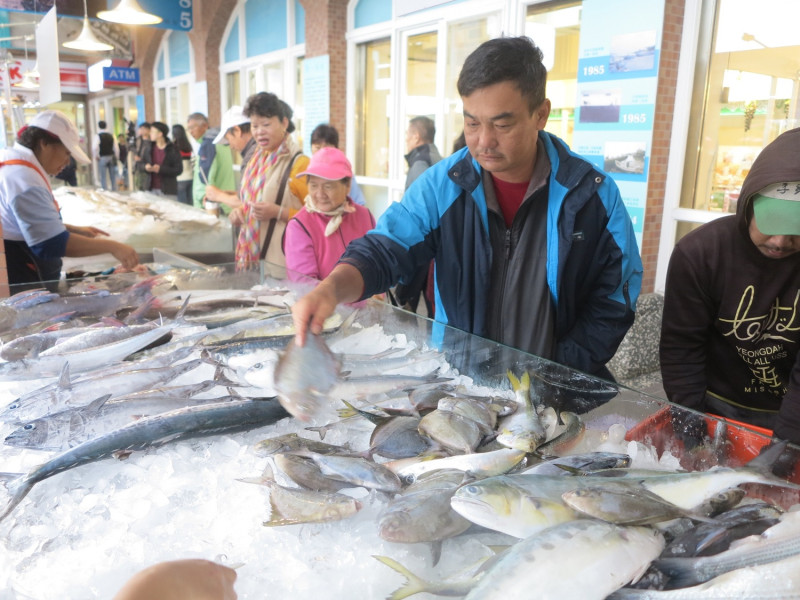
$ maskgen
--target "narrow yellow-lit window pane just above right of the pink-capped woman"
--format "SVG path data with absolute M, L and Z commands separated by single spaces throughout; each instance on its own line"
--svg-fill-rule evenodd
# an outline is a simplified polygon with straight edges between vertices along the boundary
M 389 176 L 391 40 L 361 44 L 357 52 L 361 67 L 356 92 L 356 174 L 386 178 Z

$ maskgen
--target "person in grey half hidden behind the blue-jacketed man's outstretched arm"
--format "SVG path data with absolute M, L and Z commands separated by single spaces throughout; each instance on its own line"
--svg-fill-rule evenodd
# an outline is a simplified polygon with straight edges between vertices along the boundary
M 428 167 L 442 160 L 439 149 L 433 143 L 435 136 L 436 125 L 433 119 L 420 116 L 414 117 L 408 122 L 406 130 L 406 152 L 408 154 L 405 157 L 408 163 L 408 174 L 406 175 L 405 189 L 408 189 Z M 398 306 L 416 312 L 419 298 L 422 296 L 425 300 L 427 314 L 433 315 L 433 298 L 425 293 L 428 289 L 428 276 L 432 269 L 432 262 L 423 265 L 417 269 L 407 283 L 401 281 L 397 284 L 394 289 L 394 297 Z

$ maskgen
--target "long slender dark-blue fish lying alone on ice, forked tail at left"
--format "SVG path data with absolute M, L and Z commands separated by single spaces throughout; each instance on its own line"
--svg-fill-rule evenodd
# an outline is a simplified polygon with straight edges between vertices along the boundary
M 286 411 L 274 400 L 243 400 L 190 406 L 145 417 L 62 452 L 27 474 L 4 474 L 4 480 L 10 479 L 6 483 L 10 499 L 0 512 L 0 521 L 22 502 L 34 485 L 58 473 L 115 454 L 129 454 L 176 440 L 247 431 L 286 416 Z

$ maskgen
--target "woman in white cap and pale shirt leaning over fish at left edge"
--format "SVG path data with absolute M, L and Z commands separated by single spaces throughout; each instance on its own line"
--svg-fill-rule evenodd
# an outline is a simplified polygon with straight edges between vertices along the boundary
M 57 110 L 36 115 L 20 129 L 14 146 L 0 152 L 0 218 L 11 285 L 57 280 L 64 256 L 110 253 L 127 269 L 139 264 L 133 248 L 99 237 L 106 232 L 61 220 L 49 176 L 58 174 L 70 156 L 91 162 L 75 125 Z

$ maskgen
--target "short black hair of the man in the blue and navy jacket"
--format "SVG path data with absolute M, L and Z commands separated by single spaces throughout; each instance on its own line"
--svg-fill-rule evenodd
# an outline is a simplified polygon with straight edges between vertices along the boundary
M 465 97 L 475 90 L 511 81 L 528 99 L 533 114 L 545 99 L 547 69 L 542 57 L 542 51 L 526 36 L 488 40 L 464 61 L 458 76 L 458 93 Z

